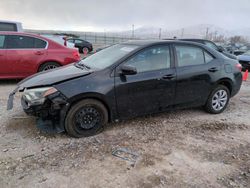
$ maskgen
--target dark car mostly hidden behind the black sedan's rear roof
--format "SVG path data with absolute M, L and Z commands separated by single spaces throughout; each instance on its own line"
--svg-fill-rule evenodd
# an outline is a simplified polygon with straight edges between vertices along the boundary
M 226 51 L 226 49 L 224 49 L 221 46 L 217 46 L 214 42 L 212 42 L 210 40 L 205 40 L 205 39 L 179 39 L 179 40 L 198 42 L 198 43 L 204 44 L 204 45 L 206 45 L 206 46 L 208 46 L 210 48 L 213 48 L 214 50 L 222 53 L 223 55 L 225 55 L 228 58 L 237 59 L 237 57 L 235 55 L 230 54 L 229 52 Z

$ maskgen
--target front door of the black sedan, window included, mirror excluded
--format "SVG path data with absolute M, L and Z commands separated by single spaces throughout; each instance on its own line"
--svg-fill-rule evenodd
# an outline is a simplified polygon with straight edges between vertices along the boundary
M 175 68 L 170 47 L 144 49 L 116 69 L 115 92 L 120 118 L 155 113 L 174 103 Z M 118 74 L 122 65 L 137 69 L 135 75 Z

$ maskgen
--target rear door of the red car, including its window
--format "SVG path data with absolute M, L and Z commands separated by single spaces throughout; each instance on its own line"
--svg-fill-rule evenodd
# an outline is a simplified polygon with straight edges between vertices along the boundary
M 7 35 L 6 63 L 14 77 L 26 77 L 38 70 L 47 55 L 47 42 L 35 37 Z

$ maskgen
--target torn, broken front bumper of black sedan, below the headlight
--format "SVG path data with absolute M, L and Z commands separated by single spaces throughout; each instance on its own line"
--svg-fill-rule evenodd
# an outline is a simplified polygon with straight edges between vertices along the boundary
M 23 92 L 18 87 L 9 95 L 7 110 L 13 108 L 14 95 Z M 64 119 L 69 104 L 67 98 L 59 91 L 48 95 L 42 104 L 34 104 L 26 95 L 21 97 L 21 105 L 26 114 L 37 117 L 37 127 L 43 132 L 64 132 Z

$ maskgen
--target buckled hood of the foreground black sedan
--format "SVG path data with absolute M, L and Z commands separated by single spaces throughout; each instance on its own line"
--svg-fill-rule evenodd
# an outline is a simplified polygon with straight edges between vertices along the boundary
M 43 87 L 53 85 L 62 81 L 74 79 L 81 76 L 86 76 L 93 71 L 87 69 L 81 69 L 76 67 L 74 64 L 59 67 L 53 70 L 41 72 L 32 75 L 17 84 L 18 90 L 33 87 Z

